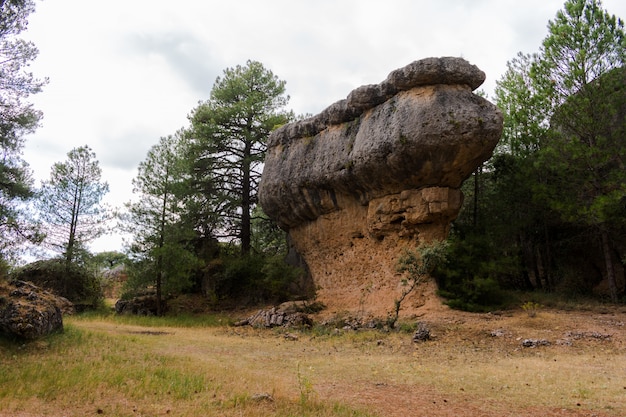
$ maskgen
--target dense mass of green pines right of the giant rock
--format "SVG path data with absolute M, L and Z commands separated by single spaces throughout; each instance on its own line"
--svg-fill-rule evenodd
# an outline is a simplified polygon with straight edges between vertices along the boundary
M 455 224 L 468 245 L 489 242 L 477 258 L 487 270 L 466 276 L 548 291 L 590 291 L 604 276 L 617 299 L 626 230 L 625 39 L 623 22 L 600 1 L 567 0 L 539 52 L 508 63 L 496 88 L 503 137 L 486 175 L 466 193 L 473 222 L 462 212 Z M 588 265 L 604 264 L 585 268 L 591 273 L 582 283 L 569 276 L 581 269 L 581 253 Z

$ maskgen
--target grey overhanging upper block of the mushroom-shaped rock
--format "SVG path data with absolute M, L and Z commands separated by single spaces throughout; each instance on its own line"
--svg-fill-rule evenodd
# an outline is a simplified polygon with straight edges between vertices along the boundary
M 500 111 L 472 92 L 484 79 L 462 58 L 426 58 L 282 126 L 268 140 L 262 207 L 289 230 L 341 210 L 344 197 L 366 205 L 407 189 L 460 187 L 502 132 Z

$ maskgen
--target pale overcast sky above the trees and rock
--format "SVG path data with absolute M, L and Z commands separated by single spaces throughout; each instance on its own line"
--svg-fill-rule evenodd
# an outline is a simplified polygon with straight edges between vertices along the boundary
M 564 0 L 44 0 L 23 37 L 48 77 L 24 157 L 37 181 L 88 144 L 121 206 L 159 137 L 187 126 L 225 68 L 260 61 L 287 82 L 289 108 L 316 114 L 354 88 L 430 56 L 461 56 L 492 94 L 507 61 L 539 49 Z M 604 0 L 626 18 L 626 2 Z M 94 251 L 121 249 L 117 236 Z

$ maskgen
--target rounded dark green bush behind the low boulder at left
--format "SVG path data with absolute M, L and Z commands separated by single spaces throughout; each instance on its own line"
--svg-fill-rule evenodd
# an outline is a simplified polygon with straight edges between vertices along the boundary
M 64 259 L 36 261 L 16 269 L 11 279 L 30 281 L 70 300 L 77 309 L 98 308 L 103 302 L 102 288 L 97 276 L 88 268 Z

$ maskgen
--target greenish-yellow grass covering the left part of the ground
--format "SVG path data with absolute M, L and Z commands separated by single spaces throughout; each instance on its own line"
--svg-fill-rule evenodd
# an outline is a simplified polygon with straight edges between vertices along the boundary
M 181 320 L 185 326 L 179 326 Z M 245 357 L 237 360 L 230 352 L 234 346 L 223 343 L 225 338 L 238 336 L 220 336 L 224 328 L 210 338 L 215 344 L 206 337 L 200 339 L 210 346 L 203 348 L 198 341 L 190 344 L 194 332 L 219 320 L 91 313 L 66 320 L 69 323 L 63 333 L 43 341 L 21 344 L 0 339 L 0 415 L 33 409 L 43 415 L 62 412 L 67 416 L 369 415 L 346 405 L 314 400 L 307 377 L 296 368 L 293 385 L 307 385 L 306 396 L 302 387 L 296 388 L 300 390 L 297 401 L 289 395 L 276 395 L 278 385 L 266 385 L 266 376 L 258 374 L 259 369 L 238 365 Z M 184 333 L 181 344 L 161 343 L 162 336 L 176 333 Z M 241 348 L 238 355 L 246 355 Z M 235 360 L 225 360 L 228 357 Z M 273 401 L 254 399 L 254 394 L 266 391 Z

